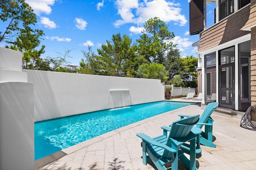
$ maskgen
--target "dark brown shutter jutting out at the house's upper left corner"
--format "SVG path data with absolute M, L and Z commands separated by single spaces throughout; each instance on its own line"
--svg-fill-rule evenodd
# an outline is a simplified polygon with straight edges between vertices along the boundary
M 204 0 L 190 2 L 190 35 L 199 34 L 204 30 Z

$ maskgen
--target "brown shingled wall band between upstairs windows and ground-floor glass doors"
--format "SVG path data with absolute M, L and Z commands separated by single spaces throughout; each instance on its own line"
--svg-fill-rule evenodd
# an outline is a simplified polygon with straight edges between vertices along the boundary
M 250 6 L 246 6 L 200 33 L 198 53 L 250 33 L 250 31 L 240 30 L 248 21 L 249 14 Z

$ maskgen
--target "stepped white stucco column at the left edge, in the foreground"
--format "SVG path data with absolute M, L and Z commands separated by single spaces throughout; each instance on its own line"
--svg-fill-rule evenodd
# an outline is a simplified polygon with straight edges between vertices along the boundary
M 0 48 L 0 170 L 34 169 L 34 85 L 22 53 Z

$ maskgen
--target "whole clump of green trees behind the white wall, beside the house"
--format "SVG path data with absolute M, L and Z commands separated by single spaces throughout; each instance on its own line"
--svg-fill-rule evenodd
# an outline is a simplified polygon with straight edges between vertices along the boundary
M 98 54 L 88 46 L 82 51 L 84 59 L 77 69 L 79 73 L 108 76 L 156 78 L 174 86 L 196 87 L 197 59 L 183 58 L 171 40 L 174 33 L 168 31 L 159 18 L 146 21 L 140 39 L 132 44 L 128 35 L 113 34 Z M 192 81 L 191 81 L 192 77 Z

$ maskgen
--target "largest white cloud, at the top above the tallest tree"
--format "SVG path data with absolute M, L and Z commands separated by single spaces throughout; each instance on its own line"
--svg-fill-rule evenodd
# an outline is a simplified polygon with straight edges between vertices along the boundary
M 136 23 L 142 25 L 150 18 L 159 17 L 164 22 L 174 21 L 175 24 L 183 26 L 187 23 L 184 15 L 181 14 L 179 3 L 167 2 L 166 0 L 117 0 L 116 8 L 122 19 L 116 20 L 115 27 L 120 27 L 126 23 Z

